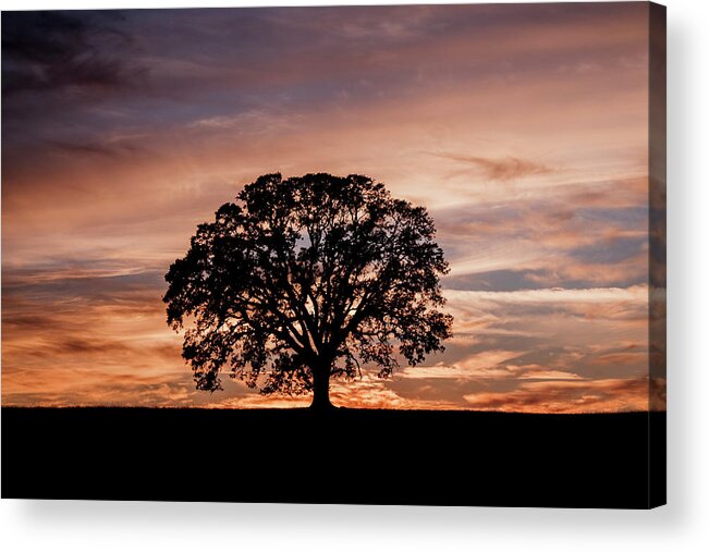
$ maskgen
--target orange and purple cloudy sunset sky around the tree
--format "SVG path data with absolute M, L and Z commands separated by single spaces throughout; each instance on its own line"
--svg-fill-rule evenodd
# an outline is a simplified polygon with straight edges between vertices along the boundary
M 2 14 L 2 404 L 194 389 L 170 263 L 257 176 L 362 173 L 436 221 L 454 338 L 333 402 L 648 408 L 648 5 Z

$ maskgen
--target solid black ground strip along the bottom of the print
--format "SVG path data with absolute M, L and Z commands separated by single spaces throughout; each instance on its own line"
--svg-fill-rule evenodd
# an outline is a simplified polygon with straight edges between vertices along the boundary
M 3 407 L 2 498 L 645 508 L 664 502 L 664 426 L 663 413 Z

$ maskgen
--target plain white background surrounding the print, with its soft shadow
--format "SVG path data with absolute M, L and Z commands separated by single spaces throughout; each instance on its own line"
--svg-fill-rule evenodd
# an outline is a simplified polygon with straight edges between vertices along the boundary
M 303 3 L 377 2 L 0 0 L 2 10 Z M 705 347 L 709 342 L 709 2 L 664 3 L 669 22 L 668 506 L 626 512 L 3 500 L 0 548 L 72 552 L 709 550 L 709 361 Z M 51 463 L 51 458 L 46 461 Z M 387 458 L 380 461 L 387 465 Z M 524 462 L 521 457 L 521 469 Z

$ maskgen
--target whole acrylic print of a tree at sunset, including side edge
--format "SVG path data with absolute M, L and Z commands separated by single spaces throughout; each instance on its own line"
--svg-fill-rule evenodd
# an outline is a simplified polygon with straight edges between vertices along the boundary
M 664 503 L 664 8 L 4 12 L 2 495 Z

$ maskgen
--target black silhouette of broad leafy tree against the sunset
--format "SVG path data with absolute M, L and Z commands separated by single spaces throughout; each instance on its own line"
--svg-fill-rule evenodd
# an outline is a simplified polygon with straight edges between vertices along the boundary
M 261 393 L 313 391 L 360 365 L 382 378 L 442 351 L 452 317 L 436 310 L 448 272 L 423 207 L 367 176 L 267 174 L 199 224 L 166 274 L 168 323 L 188 323 L 183 357 L 197 389 L 220 372 Z M 396 353 L 396 348 L 398 352 Z

